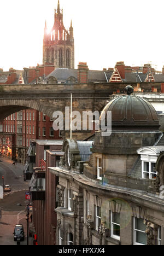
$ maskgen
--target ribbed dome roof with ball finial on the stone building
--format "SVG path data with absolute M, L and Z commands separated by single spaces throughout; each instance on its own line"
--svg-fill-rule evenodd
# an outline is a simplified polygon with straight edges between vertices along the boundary
M 132 95 L 132 86 L 126 89 L 127 95 L 115 98 L 103 109 L 106 125 L 107 111 L 111 111 L 113 130 L 159 130 L 159 119 L 154 107 L 144 98 Z

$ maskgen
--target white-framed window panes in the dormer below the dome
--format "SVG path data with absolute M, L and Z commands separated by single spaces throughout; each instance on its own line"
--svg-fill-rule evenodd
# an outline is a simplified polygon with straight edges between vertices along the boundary
M 157 172 L 154 170 L 155 162 L 142 161 L 142 178 L 143 179 L 155 179 Z

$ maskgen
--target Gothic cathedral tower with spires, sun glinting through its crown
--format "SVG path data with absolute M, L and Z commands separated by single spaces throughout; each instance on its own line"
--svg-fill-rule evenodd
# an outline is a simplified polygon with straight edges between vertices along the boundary
M 54 26 L 50 33 L 46 22 L 43 39 L 43 65 L 54 65 L 55 68 L 74 68 L 74 38 L 72 21 L 69 31 L 63 25 L 63 10 L 58 0 L 55 9 Z

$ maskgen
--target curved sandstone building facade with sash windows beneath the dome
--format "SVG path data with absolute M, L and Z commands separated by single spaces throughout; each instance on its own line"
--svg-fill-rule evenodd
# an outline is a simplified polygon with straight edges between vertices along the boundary
M 142 100 L 140 104 L 143 106 Z M 124 108 L 127 109 L 127 106 L 124 105 Z M 125 109 L 119 107 L 118 112 L 124 112 Z M 153 115 L 152 106 L 150 112 Z M 134 117 L 133 113 L 128 112 L 129 120 L 131 117 Z M 128 126 L 129 122 L 126 123 L 124 133 L 128 133 Z M 154 173 L 150 179 L 143 178 L 142 172 L 148 172 L 148 169 L 142 165 L 135 152 L 137 145 L 141 148 L 156 148 L 159 154 L 162 152 L 163 146 L 154 146 L 161 138 L 157 120 L 155 126 L 154 131 L 151 125 L 145 131 L 144 123 L 140 125 L 137 144 L 135 129 L 128 136 L 126 134 L 125 141 L 121 141 L 121 136 L 120 143 L 115 143 L 115 150 L 114 142 L 109 143 L 109 137 L 102 137 L 102 141 L 99 141 L 100 132 L 95 133 L 92 146 L 83 144 L 85 142 L 80 145 L 73 139 L 63 142 L 62 151 L 65 154 L 60 167 L 49 168 L 58 177 L 57 188 L 60 190 L 60 204 L 54 209 L 57 214 L 57 245 L 163 245 L 164 207 L 160 194 L 160 186 L 163 185 L 163 153 L 159 155 L 155 170 L 149 170 Z M 114 131 L 114 136 L 120 132 Z M 130 147 L 126 143 L 128 137 Z M 92 152 L 85 161 L 84 150 L 80 149 L 82 145 L 86 154 L 89 146 Z M 136 170 L 139 173 L 137 177 Z

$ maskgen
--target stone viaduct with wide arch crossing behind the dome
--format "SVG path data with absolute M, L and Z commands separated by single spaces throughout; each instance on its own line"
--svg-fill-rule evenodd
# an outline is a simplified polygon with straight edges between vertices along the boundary
M 154 100 L 164 102 L 164 96 L 163 98 L 159 96 L 162 95 L 160 83 L 0 85 L 0 121 L 10 114 L 28 108 L 39 110 L 50 118 L 56 110 L 65 113 L 65 107 L 70 106 L 70 94 L 72 94 L 72 110 L 100 111 L 111 100 L 113 94 L 124 94 L 124 89 L 129 84 L 134 87 L 136 93 L 142 96 L 147 94 L 151 103 Z M 156 92 L 152 92 L 152 88 L 156 88 Z M 155 95 L 154 100 L 153 95 Z

